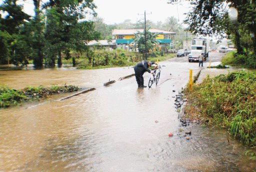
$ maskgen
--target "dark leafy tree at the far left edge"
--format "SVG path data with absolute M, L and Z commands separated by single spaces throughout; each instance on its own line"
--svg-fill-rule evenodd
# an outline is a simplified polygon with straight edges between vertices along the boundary
M 20 30 L 29 21 L 29 15 L 22 11 L 23 6 L 16 4 L 17 0 L 4 0 L 0 5 L 0 63 L 6 64 L 12 62 L 18 64 L 23 60 L 21 54 L 26 49 L 21 49 L 23 45 L 27 45 L 25 40 L 19 39 Z M 10 58 L 12 57 L 12 58 Z

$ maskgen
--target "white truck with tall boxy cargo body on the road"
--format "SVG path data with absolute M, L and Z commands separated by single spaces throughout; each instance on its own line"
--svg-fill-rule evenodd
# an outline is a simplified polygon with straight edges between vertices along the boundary
M 193 38 L 191 53 L 188 54 L 188 62 L 199 61 L 199 55 L 203 54 L 205 60 L 209 56 L 209 40 L 207 38 Z

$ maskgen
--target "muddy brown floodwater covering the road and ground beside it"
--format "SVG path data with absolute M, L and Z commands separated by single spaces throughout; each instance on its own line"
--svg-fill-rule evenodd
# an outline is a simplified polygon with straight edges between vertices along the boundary
M 245 148 L 224 130 L 180 127 L 173 98 L 197 63 L 160 62 L 159 85 L 137 88 L 133 68 L 0 71 L 13 88 L 73 84 L 96 90 L 63 101 L 0 109 L 2 172 L 251 172 Z M 21 72 L 21 73 L 20 73 Z M 3 74 L 3 75 L 2 75 Z M 3 79 L 2 76 L 5 78 Z M 108 80 L 117 82 L 104 87 Z M 147 85 L 149 74 L 144 74 Z M 173 90 L 175 92 L 173 92 Z M 190 140 L 184 132 L 191 130 Z M 173 133 L 173 137 L 168 137 Z M 229 143 L 227 142 L 229 140 Z

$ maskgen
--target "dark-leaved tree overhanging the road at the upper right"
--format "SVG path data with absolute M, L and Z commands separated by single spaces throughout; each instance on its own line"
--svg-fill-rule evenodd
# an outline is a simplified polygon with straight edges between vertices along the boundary
M 240 41 L 241 31 L 247 30 L 253 42 L 250 47 L 256 52 L 256 1 L 255 0 L 193 0 L 192 11 L 188 13 L 184 23 L 194 34 L 215 36 L 219 39 L 233 35 L 237 53 L 243 53 Z M 237 11 L 235 20 L 228 15 L 228 8 Z

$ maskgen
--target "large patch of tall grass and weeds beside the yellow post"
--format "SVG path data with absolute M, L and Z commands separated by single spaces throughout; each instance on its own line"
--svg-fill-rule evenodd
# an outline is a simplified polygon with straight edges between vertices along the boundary
M 256 146 L 256 72 L 208 76 L 187 98 L 188 114 L 201 113 L 208 125 L 225 127 L 245 145 Z

